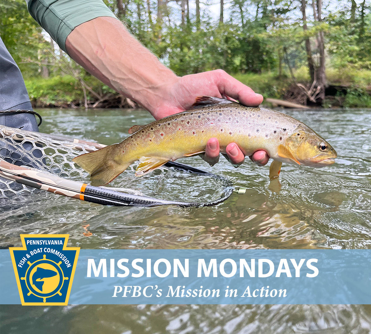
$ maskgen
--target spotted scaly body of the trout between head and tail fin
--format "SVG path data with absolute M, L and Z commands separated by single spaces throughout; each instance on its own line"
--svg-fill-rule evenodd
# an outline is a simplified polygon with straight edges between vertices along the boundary
M 258 149 L 272 156 L 276 143 L 284 142 L 300 125 L 296 119 L 265 108 L 204 107 L 160 119 L 121 142 L 120 148 L 132 153 L 130 160 L 144 156 L 175 160 L 184 154 L 204 150 L 211 137 L 219 140 L 222 153 L 236 142 L 245 155 Z M 272 142 L 273 141 L 273 142 Z M 164 155 L 165 154 L 165 155 Z M 137 159 L 138 160 L 138 159 Z

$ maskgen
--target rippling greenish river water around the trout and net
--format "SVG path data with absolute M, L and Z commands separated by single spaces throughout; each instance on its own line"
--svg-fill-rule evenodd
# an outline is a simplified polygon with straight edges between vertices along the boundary
M 102 144 L 153 120 L 143 110 L 37 111 L 40 131 Z M 83 249 L 371 248 L 371 110 L 285 112 L 328 140 L 338 153 L 335 164 L 284 165 L 278 191 L 268 166 L 247 160 L 234 168 L 222 157 L 214 167 L 198 157 L 181 160 L 247 188 L 213 207 L 106 207 L 54 194 L 28 196 L 0 213 L 0 246 L 19 246 L 20 233 L 66 233 L 69 246 Z M 165 199 L 220 194 L 215 180 L 174 171 L 136 178 L 129 170 L 112 185 Z M 9 305 L 0 312 L 1 333 L 371 333 L 367 305 Z

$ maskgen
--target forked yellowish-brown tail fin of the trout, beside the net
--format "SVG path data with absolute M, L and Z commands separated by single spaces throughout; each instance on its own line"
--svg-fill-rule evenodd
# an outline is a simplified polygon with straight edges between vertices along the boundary
M 127 164 L 119 164 L 114 160 L 115 145 L 117 144 L 72 159 L 73 162 L 90 173 L 92 186 L 103 186 L 111 182 L 130 165 L 130 161 Z

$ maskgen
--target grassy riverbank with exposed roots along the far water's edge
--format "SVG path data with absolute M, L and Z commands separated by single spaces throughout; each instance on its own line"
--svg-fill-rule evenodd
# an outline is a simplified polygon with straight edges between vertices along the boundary
M 298 69 L 294 76 L 275 72 L 233 75 L 265 98 L 285 99 L 311 105 L 311 94 L 306 69 Z M 371 108 L 371 71 L 355 69 L 328 69 L 328 87 L 323 107 Z M 82 81 L 72 76 L 25 80 L 33 107 L 88 107 L 134 108 L 133 101 L 124 98 L 92 76 Z M 85 90 L 85 92 L 84 92 Z

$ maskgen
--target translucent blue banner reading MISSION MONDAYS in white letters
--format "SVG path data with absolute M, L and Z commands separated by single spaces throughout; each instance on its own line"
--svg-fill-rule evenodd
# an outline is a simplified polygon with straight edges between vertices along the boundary
M 81 249 L 68 304 L 370 304 L 370 261 L 371 250 Z M 0 303 L 21 304 L 9 250 L 0 282 Z

